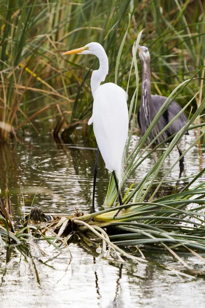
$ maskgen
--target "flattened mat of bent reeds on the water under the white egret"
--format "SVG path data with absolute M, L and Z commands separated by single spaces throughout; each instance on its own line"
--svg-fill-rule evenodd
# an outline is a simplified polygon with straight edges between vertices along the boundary
M 1 197 L 1 244 L 33 244 L 37 236 L 37 241 L 47 241 L 61 251 L 77 239 L 96 249 L 101 247 L 101 257 L 108 258 L 113 252 L 120 262 L 125 261 L 123 257 L 150 262 L 146 250 L 160 249 L 167 250 L 190 269 L 179 254 L 188 251 L 203 260 L 199 253 L 205 251 L 204 196 L 205 183 L 202 183 L 152 202 L 123 205 L 116 218 L 118 206 L 85 215 L 76 210 L 73 216 L 54 216 L 50 222 L 27 221 L 27 225 L 14 231 L 13 224 L 4 217 L 4 208 L 8 210 L 10 203 L 7 190 L 5 197 Z

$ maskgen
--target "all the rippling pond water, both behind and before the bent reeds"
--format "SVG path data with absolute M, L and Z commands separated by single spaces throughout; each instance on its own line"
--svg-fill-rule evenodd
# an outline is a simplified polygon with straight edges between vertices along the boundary
M 194 140 L 194 132 L 183 138 L 183 148 Z M 133 137 L 133 144 L 137 137 Z M 92 170 L 95 144 L 56 144 L 50 136 L 28 134 L 15 145 L 0 144 L 0 187 L 9 188 L 13 219 L 18 216 L 16 200 L 25 197 L 26 213 L 38 186 L 36 203 L 44 213 L 70 214 L 74 206 L 86 213 L 92 198 Z M 158 151 L 160 155 L 160 151 Z M 177 149 L 163 166 L 162 174 L 178 157 Z M 196 145 L 185 160 L 184 176 L 196 174 L 203 165 L 204 150 Z M 138 180 L 153 164 L 147 160 L 137 171 Z M 177 177 L 176 166 L 170 177 Z M 205 179 L 199 179 L 199 181 Z M 96 206 L 106 195 L 109 172 L 99 159 Z M 179 182 L 180 187 L 184 183 Z M 166 188 L 166 189 L 172 189 Z M 94 258 L 86 246 L 69 245 L 60 255 L 46 242 L 20 251 L 18 247 L 0 252 L 0 307 L 204 307 L 204 277 L 181 278 L 169 271 L 127 261 Z M 45 253 L 45 254 L 44 254 Z M 71 255 L 72 254 L 72 260 Z M 162 252 L 144 251 L 154 262 L 182 266 Z M 196 272 L 204 263 L 191 254 L 181 254 Z

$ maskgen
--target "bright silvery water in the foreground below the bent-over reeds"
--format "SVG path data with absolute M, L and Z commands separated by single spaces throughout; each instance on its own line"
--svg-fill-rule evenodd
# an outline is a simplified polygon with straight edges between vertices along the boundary
M 72 261 L 69 252 L 58 254 L 47 243 L 39 248 L 2 249 L 2 307 L 194 307 L 196 302 L 203 307 L 204 277 L 181 278 L 150 264 L 93 258 L 77 244 L 69 246 Z M 195 264 L 196 270 L 203 268 L 190 254 L 180 257 L 188 265 Z M 148 258 L 182 269 L 166 254 L 148 254 Z

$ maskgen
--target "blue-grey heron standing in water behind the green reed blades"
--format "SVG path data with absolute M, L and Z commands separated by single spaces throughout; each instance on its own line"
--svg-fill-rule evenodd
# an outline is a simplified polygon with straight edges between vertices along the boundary
M 137 114 L 137 121 L 142 136 L 150 126 L 155 115 L 167 100 L 166 97 L 161 95 L 151 94 L 151 73 L 150 73 L 150 53 L 149 49 L 145 46 L 138 45 L 139 57 L 142 64 L 142 83 L 141 83 L 141 106 Z M 173 101 L 167 110 L 162 114 L 157 124 L 152 129 L 148 141 L 151 142 L 157 134 L 177 115 L 181 110 L 181 107 Z M 183 126 L 185 126 L 187 118 L 185 112 L 182 112 L 179 117 L 163 132 L 160 137 L 155 141 L 155 144 L 159 144 L 163 140 L 172 136 L 178 132 Z M 182 155 L 179 144 L 177 144 L 179 156 Z M 156 153 L 155 153 L 156 155 Z M 154 156 L 156 160 L 156 156 Z M 183 165 L 183 157 L 180 160 L 180 166 Z

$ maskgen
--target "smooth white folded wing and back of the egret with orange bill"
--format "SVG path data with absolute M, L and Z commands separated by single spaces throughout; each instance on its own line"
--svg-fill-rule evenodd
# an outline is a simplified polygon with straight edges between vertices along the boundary
M 121 175 L 122 157 L 128 136 L 126 92 L 113 83 L 100 86 L 94 93 L 93 129 L 96 141 L 110 170 Z

